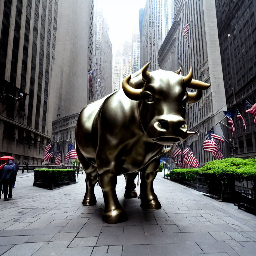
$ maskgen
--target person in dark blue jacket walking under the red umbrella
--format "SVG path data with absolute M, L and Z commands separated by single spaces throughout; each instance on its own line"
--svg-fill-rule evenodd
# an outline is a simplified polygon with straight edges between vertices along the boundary
M 13 161 L 9 160 L 9 162 L 3 168 L 2 175 L 0 178 L 4 186 L 4 201 L 11 200 L 12 198 L 12 184 L 13 184 L 14 174 L 15 174 L 15 169 L 13 167 Z M 9 191 L 8 191 L 8 188 L 9 188 Z M 7 198 L 7 194 L 8 194 L 8 198 Z

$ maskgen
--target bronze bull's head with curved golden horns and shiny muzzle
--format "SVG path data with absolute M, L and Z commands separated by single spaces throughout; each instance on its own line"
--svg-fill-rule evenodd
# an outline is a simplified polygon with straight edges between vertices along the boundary
M 192 79 L 192 68 L 187 76 L 180 76 L 180 69 L 176 72 L 148 72 L 149 64 L 141 69 L 143 81 L 136 78 L 135 84 L 131 83 L 131 76 L 123 80 L 124 93 L 128 98 L 139 101 L 141 125 L 154 142 L 168 145 L 184 140 L 195 133 L 187 130 L 186 104 L 199 101 L 202 90 L 209 88 L 210 84 Z M 141 82 L 143 87 L 137 89 Z M 196 92 L 187 92 L 186 87 L 196 89 Z

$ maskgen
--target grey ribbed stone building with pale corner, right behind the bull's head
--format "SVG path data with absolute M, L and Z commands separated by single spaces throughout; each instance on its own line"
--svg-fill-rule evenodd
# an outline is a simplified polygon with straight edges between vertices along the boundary
M 201 165 L 213 160 L 211 154 L 202 150 L 207 138 L 205 131 L 216 126 L 226 110 L 214 7 L 214 0 L 175 0 L 174 22 L 158 52 L 161 69 L 176 71 L 181 67 L 181 74 L 187 75 L 192 67 L 194 79 L 211 84 L 203 91 L 202 99 L 189 104 L 186 111 L 188 129 L 197 133 L 184 142 L 184 147 L 192 148 Z M 184 36 L 187 23 L 190 28 Z

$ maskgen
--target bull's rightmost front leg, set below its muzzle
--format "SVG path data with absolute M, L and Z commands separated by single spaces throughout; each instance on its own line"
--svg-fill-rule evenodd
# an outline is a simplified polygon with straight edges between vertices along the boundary
M 161 204 L 154 192 L 153 182 L 157 175 L 157 170 L 160 165 L 160 158 L 149 163 L 146 167 L 140 170 L 140 206 L 144 209 L 160 209 Z

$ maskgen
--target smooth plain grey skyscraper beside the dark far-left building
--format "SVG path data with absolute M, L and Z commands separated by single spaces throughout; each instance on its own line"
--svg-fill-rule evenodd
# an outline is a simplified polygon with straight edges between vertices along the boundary
M 89 101 L 88 72 L 92 70 L 94 0 L 59 0 L 53 120 L 79 113 Z

